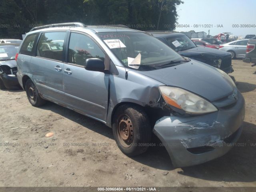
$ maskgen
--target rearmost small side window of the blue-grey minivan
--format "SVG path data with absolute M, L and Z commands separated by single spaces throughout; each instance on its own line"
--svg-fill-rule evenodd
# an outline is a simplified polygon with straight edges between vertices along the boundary
M 20 53 L 26 54 L 26 55 L 33 55 L 33 50 L 36 44 L 35 41 L 37 37 L 38 37 L 38 33 L 33 33 L 28 35 L 20 48 Z

